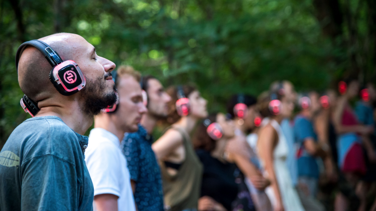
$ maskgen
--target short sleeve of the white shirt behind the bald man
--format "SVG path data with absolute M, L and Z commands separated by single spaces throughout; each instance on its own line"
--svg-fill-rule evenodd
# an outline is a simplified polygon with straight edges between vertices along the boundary
M 94 196 L 99 194 L 114 194 L 120 197 L 121 169 L 117 149 L 108 144 L 102 144 L 91 149 L 86 156 L 88 168 L 93 186 Z

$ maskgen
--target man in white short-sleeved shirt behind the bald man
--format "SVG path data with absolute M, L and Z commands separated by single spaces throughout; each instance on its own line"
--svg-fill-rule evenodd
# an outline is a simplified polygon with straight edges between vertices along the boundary
M 130 66 L 120 66 L 113 74 L 118 87 L 118 103 L 94 119 L 86 165 L 94 185 L 96 211 L 135 211 L 130 175 L 120 140 L 124 133 L 138 130 L 147 112 L 139 85 L 140 74 Z

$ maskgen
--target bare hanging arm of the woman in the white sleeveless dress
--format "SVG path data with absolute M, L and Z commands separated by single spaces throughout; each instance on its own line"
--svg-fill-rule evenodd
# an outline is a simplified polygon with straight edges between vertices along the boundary
M 268 124 L 260 130 L 259 138 L 257 141 L 257 146 L 259 148 L 259 155 L 262 161 L 265 164 L 265 170 L 268 173 L 268 178 L 271 182 L 271 187 L 276 194 L 277 204 L 282 206 L 282 197 L 279 191 L 278 182 L 276 174 L 274 171 L 274 149 L 277 145 L 277 132 L 274 128 Z

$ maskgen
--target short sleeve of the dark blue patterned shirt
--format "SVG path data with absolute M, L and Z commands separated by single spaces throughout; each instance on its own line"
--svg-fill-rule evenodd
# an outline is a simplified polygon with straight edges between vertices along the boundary
M 130 179 L 137 181 L 140 169 L 140 152 L 135 134 L 128 134 L 124 137 L 124 156 L 127 159 Z

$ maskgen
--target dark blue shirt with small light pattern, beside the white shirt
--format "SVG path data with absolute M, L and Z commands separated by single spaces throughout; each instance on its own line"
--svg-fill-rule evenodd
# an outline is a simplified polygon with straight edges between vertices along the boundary
M 152 143 L 152 136 L 141 125 L 136 133 L 126 133 L 122 142 L 130 179 L 136 182 L 138 211 L 164 210 L 161 170 Z

